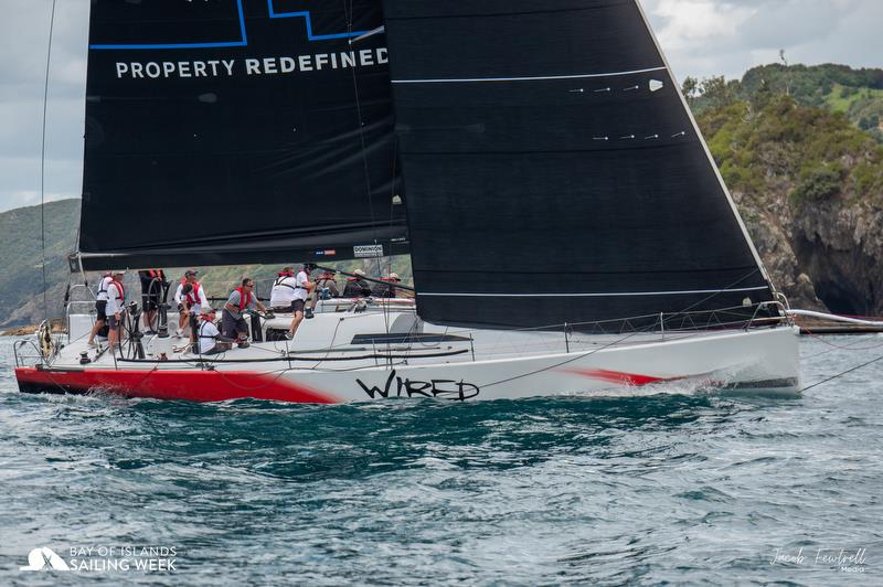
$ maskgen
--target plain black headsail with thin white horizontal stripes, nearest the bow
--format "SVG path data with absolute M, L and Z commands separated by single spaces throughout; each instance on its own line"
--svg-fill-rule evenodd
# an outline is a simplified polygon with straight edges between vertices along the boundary
M 773 299 L 634 0 L 384 13 L 425 320 L 534 328 Z

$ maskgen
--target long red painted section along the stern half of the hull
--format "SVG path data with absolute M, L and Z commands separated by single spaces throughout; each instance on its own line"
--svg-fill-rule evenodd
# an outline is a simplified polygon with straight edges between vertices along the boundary
M 251 397 L 302 404 L 334 404 L 339 399 L 279 374 L 247 371 L 45 371 L 15 370 L 22 392 L 88 393 L 106 392 L 127 397 L 224 402 Z

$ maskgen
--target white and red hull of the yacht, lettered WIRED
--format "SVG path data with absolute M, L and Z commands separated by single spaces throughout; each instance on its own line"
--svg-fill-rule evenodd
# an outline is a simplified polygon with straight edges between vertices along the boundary
M 286 320 L 285 318 L 277 320 Z M 387 324 L 396 339 L 383 342 Z M 403 337 L 415 327 L 419 340 Z M 361 338 L 360 338 L 361 337 Z M 368 339 L 365 339 L 368 337 Z M 164 341 L 168 343 L 168 339 Z M 178 341 L 183 343 L 184 341 Z M 110 392 L 135 397 L 362 402 L 386 397 L 500 399 L 604 396 L 706 387 L 797 393 L 792 327 L 623 335 L 469 331 L 423 324 L 413 312 L 318 314 L 295 344 L 255 343 L 223 355 L 170 353 L 146 340 L 143 360 L 97 360 L 73 341 L 42 367 L 17 370 L 28 392 Z M 91 362 L 81 364 L 83 351 Z M 660 387 L 663 386 L 663 387 Z

